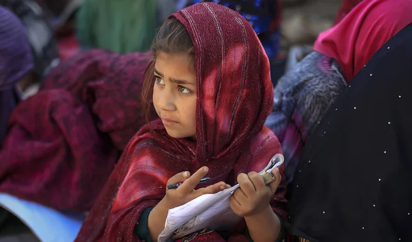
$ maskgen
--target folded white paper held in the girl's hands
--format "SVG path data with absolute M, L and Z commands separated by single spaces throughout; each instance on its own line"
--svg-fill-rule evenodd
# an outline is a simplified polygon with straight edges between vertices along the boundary
M 276 162 L 276 163 L 275 163 Z M 284 162 L 281 154 L 273 156 L 268 166 L 260 172 L 271 172 Z M 205 194 L 187 204 L 169 210 L 165 228 L 157 239 L 158 242 L 172 241 L 198 230 L 230 230 L 242 219 L 229 206 L 229 198 L 239 185 L 215 194 Z

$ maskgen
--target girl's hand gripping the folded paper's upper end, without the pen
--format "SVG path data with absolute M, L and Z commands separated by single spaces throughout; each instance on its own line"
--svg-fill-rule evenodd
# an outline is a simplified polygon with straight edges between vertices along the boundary
M 272 173 L 276 180 L 268 185 L 265 185 L 262 176 L 254 171 L 249 174 L 239 174 L 240 187 L 233 192 L 229 199 L 230 207 L 236 215 L 251 217 L 268 208 L 281 180 L 279 169 L 273 169 Z

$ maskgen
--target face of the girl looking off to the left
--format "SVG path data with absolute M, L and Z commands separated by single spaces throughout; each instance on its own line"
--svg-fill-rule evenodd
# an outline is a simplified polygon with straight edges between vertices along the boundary
M 153 104 L 168 134 L 196 140 L 196 71 L 187 53 L 159 51 Z

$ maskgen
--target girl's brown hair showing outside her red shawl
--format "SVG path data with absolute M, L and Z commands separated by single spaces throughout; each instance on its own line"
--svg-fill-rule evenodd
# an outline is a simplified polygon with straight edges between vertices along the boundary
M 152 43 L 153 60 L 149 63 L 144 72 L 144 83 L 141 93 L 141 103 L 146 115 L 146 121 L 150 121 L 152 108 L 153 85 L 155 77 L 153 71 L 155 69 L 155 59 L 159 51 L 167 53 L 187 52 L 190 56 L 194 56 L 194 46 L 189 32 L 185 26 L 176 18 L 170 18 L 161 25 Z

